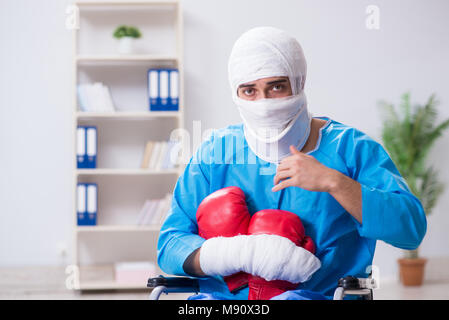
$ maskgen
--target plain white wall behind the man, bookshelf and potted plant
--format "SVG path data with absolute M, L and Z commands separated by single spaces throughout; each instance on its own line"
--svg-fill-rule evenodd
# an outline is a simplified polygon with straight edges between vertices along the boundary
M 308 60 L 311 111 L 379 139 L 376 102 L 416 103 L 436 92 L 449 117 L 449 2 L 446 0 L 184 0 L 186 126 L 239 122 L 227 82 L 236 38 L 271 25 L 295 35 Z M 0 2 L 0 265 L 62 263 L 71 246 L 71 34 L 69 1 Z M 380 8 L 380 30 L 365 27 L 367 5 Z M 42 10 L 42 9 L 45 10 Z M 448 188 L 429 218 L 422 255 L 449 255 L 449 133 L 431 161 Z M 399 249 L 379 243 L 381 275 L 396 273 Z

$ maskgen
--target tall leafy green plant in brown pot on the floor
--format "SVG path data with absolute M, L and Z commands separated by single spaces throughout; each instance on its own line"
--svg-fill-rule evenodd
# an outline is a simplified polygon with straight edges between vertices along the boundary
M 431 95 L 425 105 L 411 106 L 410 94 L 401 97 L 399 108 L 380 102 L 384 115 L 382 141 L 385 149 L 417 196 L 428 216 L 443 192 L 436 169 L 426 164 L 435 141 L 449 127 L 449 119 L 436 124 L 438 102 Z M 396 110 L 398 109 L 398 110 Z M 421 285 L 426 259 L 420 258 L 418 249 L 405 250 L 399 259 L 399 274 L 404 285 Z

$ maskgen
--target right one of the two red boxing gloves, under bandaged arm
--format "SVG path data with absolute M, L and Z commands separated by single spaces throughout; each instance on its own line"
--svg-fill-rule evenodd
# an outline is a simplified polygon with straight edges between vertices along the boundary
M 315 244 L 305 235 L 301 219 L 284 210 L 267 209 L 256 212 L 251 218 L 248 234 L 278 235 L 293 241 L 297 246 L 315 253 Z M 269 300 L 288 290 L 294 290 L 297 283 L 283 280 L 267 281 L 258 276 L 249 278 L 249 300 Z

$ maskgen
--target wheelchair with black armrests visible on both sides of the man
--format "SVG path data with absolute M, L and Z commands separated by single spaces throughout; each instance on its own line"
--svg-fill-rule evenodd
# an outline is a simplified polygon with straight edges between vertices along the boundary
M 199 281 L 189 277 L 149 278 L 147 287 L 151 288 L 150 300 L 159 300 L 162 293 L 199 293 Z M 352 296 L 360 300 L 373 300 L 373 289 L 377 288 L 376 280 L 370 275 L 368 278 L 346 276 L 338 280 L 333 300 L 343 300 L 345 296 Z

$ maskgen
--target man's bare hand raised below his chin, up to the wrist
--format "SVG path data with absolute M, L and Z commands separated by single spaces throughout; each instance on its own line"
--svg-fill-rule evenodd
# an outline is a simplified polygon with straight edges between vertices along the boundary
M 314 157 L 290 146 L 291 156 L 283 159 L 274 176 L 276 192 L 287 187 L 299 187 L 309 191 L 331 192 L 337 184 L 336 170 L 322 165 Z

